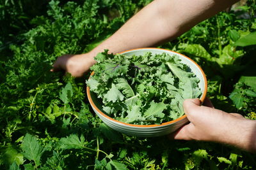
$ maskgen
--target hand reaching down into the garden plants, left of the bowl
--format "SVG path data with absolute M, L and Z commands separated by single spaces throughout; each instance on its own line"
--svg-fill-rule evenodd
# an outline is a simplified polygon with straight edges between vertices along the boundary
M 62 55 L 54 62 L 51 71 L 65 70 L 72 76 L 81 77 L 95 64 L 93 56 L 89 53 L 79 55 Z

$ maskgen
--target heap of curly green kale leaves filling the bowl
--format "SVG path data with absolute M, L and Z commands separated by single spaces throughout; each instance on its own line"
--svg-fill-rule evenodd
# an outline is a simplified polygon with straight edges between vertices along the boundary
M 177 55 L 99 53 L 86 81 L 102 110 L 130 124 L 161 124 L 184 115 L 184 99 L 200 97 L 200 81 Z

